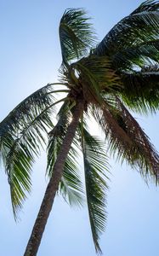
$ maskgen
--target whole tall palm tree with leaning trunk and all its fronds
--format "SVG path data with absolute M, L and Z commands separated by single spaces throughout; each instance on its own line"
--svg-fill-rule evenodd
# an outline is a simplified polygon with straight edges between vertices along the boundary
M 105 148 L 137 168 L 146 181 L 158 183 L 159 155 L 129 112 L 152 113 L 159 107 L 158 9 L 158 1 L 145 1 L 97 46 L 84 9 L 67 9 L 59 30 L 60 82 L 28 96 L 0 123 L 1 157 L 15 218 L 31 191 L 32 164 L 47 145 L 49 182 L 25 256 L 37 255 L 57 193 L 77 205 L 86 195 L 94 246 L 101 253 L 109 172 Z M 89 118 L 104 131 L 105 144 L 88 131 Z M 85 193 L 77 166 L 80 152 Z

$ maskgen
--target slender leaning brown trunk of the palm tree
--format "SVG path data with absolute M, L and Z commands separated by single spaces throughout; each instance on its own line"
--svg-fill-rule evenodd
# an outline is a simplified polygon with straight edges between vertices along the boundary
M 43 202 L 38 212 L 34 227 L 32 229 L 31 237 L 28 241 L 24 256 L 37 255 L 37 250 L 42 240 L 43 231 L 45 229 L 45 225 L 47 224 L 48 216 L 54 203 L 54 197 L 56 195 L 56 191 L 59 187 L 60 179 L 62 177 L 65 159 L 70 150 L 72 139 L 75 136 L 82 110 L 83 102 L 81 101 L 77 103 L 76 109 L 73 113 L 71 124 L 68 127 L 62 147 L 60 149 L 60 154 L 58 154 L 57 160 L 54 164 L 53 176 L 50 178 L 50 181 L 48 183 L 48 187 L 43 197 Z

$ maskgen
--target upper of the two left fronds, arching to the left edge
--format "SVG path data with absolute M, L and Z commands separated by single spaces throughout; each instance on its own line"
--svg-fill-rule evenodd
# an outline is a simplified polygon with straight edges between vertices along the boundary
M 28 125 L 31 125 L 31 122 L 35 121 L 37 118 L 40 119 L 40 115 L 43 115 L 44 112 L 46 113 L 48 109 L 52 107 L 52 104 L 54 105 L 55 98 L 52 85 L 53 84 L 47 84 L 42 89 L 31 94 L 31 96 L 28 96 L 3 119 L 0 123 L 1 141 L 3 141 L 3 137 L 7 137 L 8 133 L 12 134 L 14 138 L 20 137 L 20 134 L 27 129 Z M 52 112 L 54 112 L 54 109 L 52 109 Z M 43 118 L 44 115 L 41 119 L 43 120 Z M 46 123 L 48 126 L 51 125 L 51 121 L 48 119 Z M 45 120 L 43 120 L 43 125 L 44 124 Z

